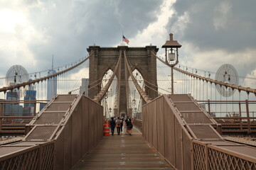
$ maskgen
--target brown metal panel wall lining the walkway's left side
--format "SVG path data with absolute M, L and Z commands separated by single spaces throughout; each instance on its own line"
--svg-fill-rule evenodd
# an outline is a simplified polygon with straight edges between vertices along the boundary
M 54 169 L 72 169 L 103 137 L 103 108 L 82 96 L 55 137 Z

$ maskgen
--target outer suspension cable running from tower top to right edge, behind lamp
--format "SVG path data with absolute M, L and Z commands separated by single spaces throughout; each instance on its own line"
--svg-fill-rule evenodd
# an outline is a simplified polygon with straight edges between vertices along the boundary
M 154 57 L 156 57 L 160 62 L 163 62 L 164 64 L 166 64 L 166 62 L 164 62 L 164 60 L 161 60 L 160 57 L 158 57 L 153 51 L 151 51 L 151 53 L 154 55 Z M 168 64 L 166 64 L 168 66 Z M 213 80 L 213 79 L 210 79 L 210 78 L 206 78 L 206 77 L 201 77 L 201 76 L 198 76 L 196 74 L 193 74 L 191 72 L 187 72 L 187 71 L 184 71 L 182 69 L 179 69 L 178 67 L 174 67 L 174 69 L 178 72 L 182 72 L 183 74 L 187 74 L 191 77 L 195 77 L 196 79 L 201 79 L 203 81 L 209 81 L 210 83 L 214 83 L 214 84 L 219 84 L 220 86 L 225 86 L 226 88 L 227 87 L 230 87 L 231 89 L 238 89 L 238 91 L 245 91 L 247 93 L 252 93 L 252 94 L 255 94 L 256 95 L 256 89 L 251 89 L 250 87 L 245 87 L 245 86 L 237 86 L 235 84 L 228 84 L 228 83 L 225 83 L 223 81 L 217 81 L 217 80 Z

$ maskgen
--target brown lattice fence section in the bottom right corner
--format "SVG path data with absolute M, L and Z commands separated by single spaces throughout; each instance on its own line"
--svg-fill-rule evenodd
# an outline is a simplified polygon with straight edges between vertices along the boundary
M 255 147 L 193 141 L 193 169 L 256 169 Z

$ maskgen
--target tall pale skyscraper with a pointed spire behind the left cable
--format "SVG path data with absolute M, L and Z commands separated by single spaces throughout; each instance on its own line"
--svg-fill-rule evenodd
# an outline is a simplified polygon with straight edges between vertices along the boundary
M 56 71 L 53 69 L 53 63 L 52 63 L 52 69 L 49 70 L 48 76 L 55 74 Z M 52 77 L 47 80 L 47 100 L 50 101 L 53 96 L 57 94 L 57 77 Z

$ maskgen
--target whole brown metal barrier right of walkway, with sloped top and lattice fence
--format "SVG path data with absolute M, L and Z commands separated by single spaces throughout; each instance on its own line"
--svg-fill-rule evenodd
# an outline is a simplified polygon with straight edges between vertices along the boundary
M 142 108 L 144 138 L 176 169 L 255 169 L 256 148 L 228 142 L 189 95 L 164 95 Z

